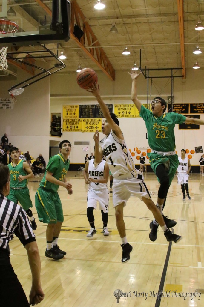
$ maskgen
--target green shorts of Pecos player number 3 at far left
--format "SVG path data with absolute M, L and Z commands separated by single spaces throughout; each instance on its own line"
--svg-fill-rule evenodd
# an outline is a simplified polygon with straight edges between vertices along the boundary
M 29 208 L 32 208 L 33 206 L 28 187 L 25 187 L 23 189 L 10 188 L 9 195 L 7 196 L 7 198 L 13 201 L 15 204 L 19 202 L 25 211 Z

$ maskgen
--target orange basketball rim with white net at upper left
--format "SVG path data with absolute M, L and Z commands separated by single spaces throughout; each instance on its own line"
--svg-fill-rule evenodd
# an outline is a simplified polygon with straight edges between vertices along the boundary
M 18 25 L 10 20 L 0 19 L 0 34 L 16 33 Z M 8 47 L 0 49 L 0 70 L 6 70 L 9 66 L 6 61 L 6 51 Z

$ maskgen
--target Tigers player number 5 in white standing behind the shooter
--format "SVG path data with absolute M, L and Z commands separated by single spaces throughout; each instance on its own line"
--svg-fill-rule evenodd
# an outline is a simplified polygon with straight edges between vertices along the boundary
M 96 163 L 94 159 L 86 162 L 83 176 L 85 183 L 89 185 L 87 193 L 87 219 L 90 224 L 90 231 L 87 238 L 92 238 L 96 234 L 94 209 L 96 209 L 97 201 L 102 214 L 103 235 L 109 235 L 108 223 L 108 188 L 107 181 L 109 176 L 109 168 L 106 161 L 102 160 Z

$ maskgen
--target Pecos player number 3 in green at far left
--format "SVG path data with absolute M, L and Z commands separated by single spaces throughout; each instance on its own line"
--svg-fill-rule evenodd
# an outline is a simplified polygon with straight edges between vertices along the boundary
M 17 147 L 12 147 L 10 149 L 10 156 L 13 162 L 8 165 L 10 173 L 10 192 L 7 198 L 15 204 L 17 204 L 18 201 L 20 202 L 30 218 L 32 229 L 35 230 L 37 225 L 30 209 L 33 205 L 27 187 L 28 179 L 33 178 L 34 175 L 28 163 L 24 160 L 19 160 L 20 154 Z

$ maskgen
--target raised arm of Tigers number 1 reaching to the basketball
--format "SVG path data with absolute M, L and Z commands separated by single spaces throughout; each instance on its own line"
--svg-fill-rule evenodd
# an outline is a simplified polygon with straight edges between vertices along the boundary
M 98 84 L 98 86 L 97 86 L 96 83 L 92 84 L 92 87 L 89 87 L 89 89 L 87 91 L 92 93 L 95 96 L 96 100 L 98 101 L 98 103 L 101 107 L 103 115 L 106 118 L 107 122 L 109 123 L 113 132 L 117 135 L 118 138 L 120 138 L 121 140 L 124 140 L 121 128 L 111 118 L 109 109 L 107 108 L 105 102 L 103 101 L 103 99 L 101 98 L 101 95 L 99 94 L 99 91 L 100 91 L 99 84 Z

